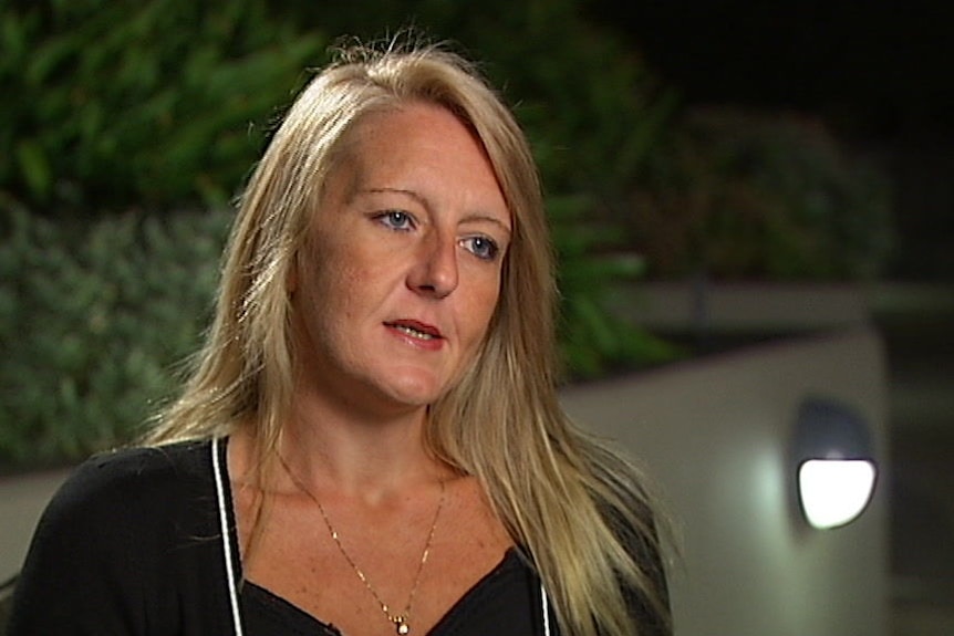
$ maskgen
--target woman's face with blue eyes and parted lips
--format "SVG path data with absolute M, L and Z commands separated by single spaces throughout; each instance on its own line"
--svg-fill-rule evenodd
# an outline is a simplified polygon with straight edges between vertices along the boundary
M 511 219 L 481 145 L 411 104 L 350 137 L 290 279 L 303 384 L 351 409 L 417 408 L 471 363 Z

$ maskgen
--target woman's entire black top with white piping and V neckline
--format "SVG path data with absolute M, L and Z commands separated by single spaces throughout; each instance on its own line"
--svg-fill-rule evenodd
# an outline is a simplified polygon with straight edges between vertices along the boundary
M 557 636 L 546 602 L 512 549 L 429 634 Z M 212 441 L 122 450 L 71 476 L 37 528 L 8 629 L 40 634 L 341 636 L 241 581 L 226 444 Z

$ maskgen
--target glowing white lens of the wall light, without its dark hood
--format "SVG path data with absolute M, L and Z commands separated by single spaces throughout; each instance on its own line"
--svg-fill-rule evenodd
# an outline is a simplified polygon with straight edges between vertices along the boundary
M 813 528 L 837 528 L 861 514 L 874 490 L 874 462 L 810 459 L 798 469 L 805 517 Z

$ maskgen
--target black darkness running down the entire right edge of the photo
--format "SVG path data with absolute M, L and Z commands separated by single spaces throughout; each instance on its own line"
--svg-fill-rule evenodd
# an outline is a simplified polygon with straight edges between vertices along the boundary
M 893 181 L 872 320 L 889 365 L 891 634 L 954 627 L 954 8 L 948 2 L 598 0 L 687 106 L 820 116 Z M 899 289 L 894 288 L 894 289 Z M 883 288 L 882 288 L 883 289 Z

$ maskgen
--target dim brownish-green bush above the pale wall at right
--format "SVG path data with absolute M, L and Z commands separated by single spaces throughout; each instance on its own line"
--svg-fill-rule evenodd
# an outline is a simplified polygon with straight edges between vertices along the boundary
M 818 121 L 691 112 L 629 227 L 654 277 L 863 280 L 891 246 L 886 177 Z

